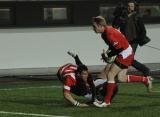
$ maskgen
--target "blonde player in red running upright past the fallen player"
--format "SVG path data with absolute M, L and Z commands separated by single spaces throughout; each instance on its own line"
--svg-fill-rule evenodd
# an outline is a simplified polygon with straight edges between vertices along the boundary
M 127 75 L 128 67 L 132 65 L 134 53 L 125 36 L 117 29 L 107 26 L 106 20 L 102 16 L 97 16 L 92 19 L 93 30 L 100 33 L 104 42 L 109 46 L 110 52 L 108 57 L 117 56 L 110 65 L 107 75 L 108 85 L 106 85 L 106 96 L 103 103 L 94 102 L 97 107 L 108 107 L 111 102 L 111 96 L 116 87 L 115 78 L 121 82 L 141 82 L 148 91 L 152 90 L 152 82 L 150 77 Z

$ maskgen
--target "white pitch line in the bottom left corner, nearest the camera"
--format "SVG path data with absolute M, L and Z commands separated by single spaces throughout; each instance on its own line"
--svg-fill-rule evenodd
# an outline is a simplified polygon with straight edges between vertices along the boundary
M 0 111 L 0 113 L 1 113 L 1 114 L 9 114 L 9 115 L 35 116 L 35 117 L 69 117 L 69 116 L 56 116 L 56 115 L 34 114 L 34 113 L 6 112 L 6 111 Z

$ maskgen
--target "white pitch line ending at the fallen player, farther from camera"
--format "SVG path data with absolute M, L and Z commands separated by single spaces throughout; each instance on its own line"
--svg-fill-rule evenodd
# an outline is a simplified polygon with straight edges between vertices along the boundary
M 6 88 L 0 89 L 0 91 L 9 91 L 9 90 L 23 90 L 23 89 L 36 89 L 36 88 L 61 88 L 62 86 L 40 86 L 40 87 L 24 87 L 24 88 Z

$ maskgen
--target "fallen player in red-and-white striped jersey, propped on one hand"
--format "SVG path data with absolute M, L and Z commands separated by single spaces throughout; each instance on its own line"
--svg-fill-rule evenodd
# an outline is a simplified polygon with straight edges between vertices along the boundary
M 96 97 L 102 101 L 103 98 L 100 97 L 104 97 L 105 95 L 104 85 L 102 85 L 104 80 L 97 80 L 97 89 L 95 89 L 91 74 L 88 72 L 88 68 L 80 61 L 78 55 L 74 55 L 71 52 L 68 52 L 68 54 L 75 59 L 76 65 L 71 63 L 65 64 L 60 67 L 57 72 L 57 77 L 63 83 L 64 98 L 72 105 L 79 107 L 86 107 L 89 105 L 85 102 L 80 103 L 74 99 L 72 93 L 77 96 L 84 96 L 91 103 L 95 101 Z M 97 92 L 97 96 L 95 96 L 95 91 Z M 117 91 L 117 88 L 115 88 L 112 99 Z

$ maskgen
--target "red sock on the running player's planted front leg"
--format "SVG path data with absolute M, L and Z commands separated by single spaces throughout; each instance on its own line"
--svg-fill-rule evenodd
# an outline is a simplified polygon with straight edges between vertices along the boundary
M 106 86 L 106 96 L 105 96 L 105 103 L 110 105 L 110 100 L 111 100 L 111 97 L 113 95 L 113 91 L 114 91 L 114 88 L 116 87 L 116 84 L 115 84 L 115 81 L 108 81 L 108 84 Z

